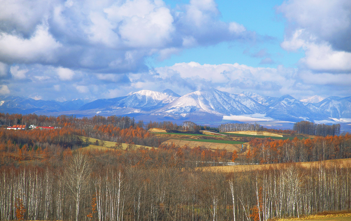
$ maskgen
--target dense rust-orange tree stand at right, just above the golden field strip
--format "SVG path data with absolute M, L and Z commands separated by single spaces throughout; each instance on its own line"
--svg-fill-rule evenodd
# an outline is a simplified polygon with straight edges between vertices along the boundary
M 272 164 L 344 159 L 351 157 L 351 134 L 307 139 L 273 140 L 255 138 L 249 142 L 246 158 L 254 163 Z

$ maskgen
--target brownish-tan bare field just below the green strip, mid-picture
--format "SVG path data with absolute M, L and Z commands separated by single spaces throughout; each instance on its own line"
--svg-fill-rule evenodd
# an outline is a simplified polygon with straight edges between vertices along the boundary
M 176 139 L 170 139 L 167 141 L 164 141 L 163 144 L 171 144 L 174 143 L 179 146 L 184 146 L 187 145 L 190 148 L 202 146 L 206 147 L 208 149 L 225 149 L 227 151 L 234 151 L 236 150 L 238 153 L 241 150 L 241 144 L 221 144 L 221 143 L 209 143 L 209 142 L 201 142 L 201 141 L 192 141 L 192 140 L 176 140 Z M 244 144 L 245 145 L 245 144 Z

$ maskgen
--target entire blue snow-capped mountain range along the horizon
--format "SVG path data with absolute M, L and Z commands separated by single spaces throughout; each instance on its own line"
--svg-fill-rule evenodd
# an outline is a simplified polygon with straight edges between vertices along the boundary
M 233 116 L 260 116 L 262 120 L 298 122 L 351 122 L 351 96 L 301 101 L 290 95 L 261 96 L 243 92 L 230 94 L 214 88 L 201 89 L 179 96 L 167 89 L 161 92 L 141 90 L 111 99 L 75 99 L 42 101 L 23 97 L 0 97 L 0 112 L 44 115 L 128 115 L 140 119 L 192 120 L 194 122 L 235 119 Z M 257 120 L 257 118 L 253 118 Z M 259 119 L 258 119 L 259 121 Z

